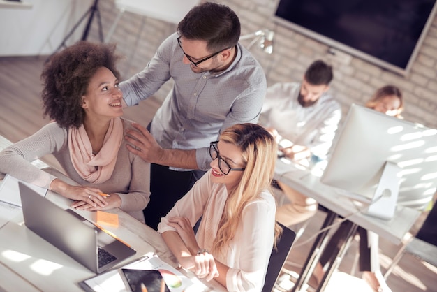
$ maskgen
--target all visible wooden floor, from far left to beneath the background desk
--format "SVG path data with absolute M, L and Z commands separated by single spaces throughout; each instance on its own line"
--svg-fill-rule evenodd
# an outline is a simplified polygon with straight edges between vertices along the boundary
M 40 104 L 42 87 L 39 76 L 44 61 L 45 57 L 0 57 L 0 135 L 13 142 L 31 135 L 48 122 L 47 118 L 43 118 Z M 159 105 L 160 102 L 156 98 L 149 98 L 140 105 L 127 108 L 124 117 L 147 125 Z M 47 160 L 51 162 L 50 158 Z M 292 248 L 286 264 L 288 270 L 299 272 L 312 244 L 299 242 L 304 242 L 318 231 L 324 216 L 325 213 L 318 212 L 311 219 L 304 235 Z M 424 216 L 417 221 L 413 229 L 417 230 L 423 219 Z M 398 249 L 399 246 L 384 239 L 380 240 L 380 262 L 383 272 Z M 366 285 L 359 279 L 360 272 L 357 272 L 357 277 L 348 275 L 356 253 L 357 240 L 343 258 L 339 268 L 341 272 L 336 273 L 327 290 L 366 291 Z M 407 254 L 388 278 L 387 284 L 393 292 L 437 291 L 437 270 Z

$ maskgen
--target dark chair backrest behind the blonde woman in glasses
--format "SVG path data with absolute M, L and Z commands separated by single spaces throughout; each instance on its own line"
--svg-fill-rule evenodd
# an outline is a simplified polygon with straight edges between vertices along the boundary
M 271 292 L 276 280 L 279 277 L 279 273 L 282 270 L 284 263 L 286 263 L 288 254 L 290 254 L 290 250 L 293 242 L 296 238 L 295 231 L 292 231 L 290 228 L 283 226 L 278 222 L 278 224 L 282 227 L 282 236 L 279 238 L 277 243 L 278 249 L 272 250 L 272 254 L 270 255 L 269 265 L 267 266 L 267 274 L 265 275 L 265 283 L 264 287 L 262 287 L 262 292 Z

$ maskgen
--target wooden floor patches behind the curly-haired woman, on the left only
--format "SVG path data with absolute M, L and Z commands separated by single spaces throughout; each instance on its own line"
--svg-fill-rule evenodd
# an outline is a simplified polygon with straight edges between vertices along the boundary
M 40 73 L 46 57 L 0 57 L 0 135 L 12 142 L 47 124 L 43 118 Z M 126 108 L 124 117 L 147 126 L 161 103 L 154 97 Z

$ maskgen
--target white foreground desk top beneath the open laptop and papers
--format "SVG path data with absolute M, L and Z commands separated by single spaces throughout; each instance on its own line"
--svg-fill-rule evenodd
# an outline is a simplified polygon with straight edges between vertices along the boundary
M 4 141 L 4 138 L 0 136 L 0 140 Z M 57 170 L 49 168 L 46 171 L 68 180 Z M 64 209 L 71 205 L 71 200 L 52 191 L 48 191 L 46 198 Z M 96 222 L 95 212 L 75 211 Z M 105 212 L 119 215 L 119 227 L 105 228 L 137 251 L 135 256 L 126 259 L 117 268 L 149 252 L 177 267 L 174 256 L 159 233 L 119 209 Z M 0 291 L 82 291 L 78 283 L 95 275 L 30 231 L 24 225 L 21 213 L 0 228 L 0 238 Z M 190 274 L 184 270 L 181 272 Z M 204 291 L 225 291 L 214 280 L 201 282 L 205 284 Z

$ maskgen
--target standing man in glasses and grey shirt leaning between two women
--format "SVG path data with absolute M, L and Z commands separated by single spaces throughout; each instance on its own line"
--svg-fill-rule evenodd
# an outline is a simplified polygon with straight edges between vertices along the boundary
M 152 163 L 144 210 L 152 228 L 209 168 L 209 143 L 233 124 L 258 122 L 267 83 L 239 36 L 239 19 L 228 6 L 202 3 L 143 71 L 120 84 L 126 104 L 135 105 L 174 81 L 149 131 L 136 124 L 138 131 L 126 137 L 128 149 Z

